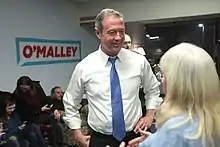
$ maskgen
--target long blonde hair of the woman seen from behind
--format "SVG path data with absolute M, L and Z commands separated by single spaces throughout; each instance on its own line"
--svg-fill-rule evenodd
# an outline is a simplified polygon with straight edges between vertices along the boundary
M 214 146 L 213 136 L 220 139 L 220 82 L 212 58 L 200 47 L 181 43 L 163 55 L 160 65 L 166 97 L 157 126 L 181 113 L 188 117 L 180 125 L 196 116 L 198 129 L 190 139 L 205 137 L 209 146 Z

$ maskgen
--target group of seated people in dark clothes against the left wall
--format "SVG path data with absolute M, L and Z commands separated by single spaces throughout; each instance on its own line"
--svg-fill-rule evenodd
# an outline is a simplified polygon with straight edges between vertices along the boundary
M 46 96 L 38 81 L 22 76 L 13 93 L 1 92 L 0 120 L 2 147 L 47 147 L 40 126 L 50 124 L 53 146 L 63 141 L 63 92 L 58 86 Z

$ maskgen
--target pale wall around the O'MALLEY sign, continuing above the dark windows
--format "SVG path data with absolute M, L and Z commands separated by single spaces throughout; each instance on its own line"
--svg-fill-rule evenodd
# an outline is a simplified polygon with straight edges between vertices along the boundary
M 96 15 L 102 8 L 121 11 L 126 21 L 220 13 L 220 0 L 130 0 L 75 5 L 71 0 L 0 1 L 0 90 L 13 91 L 21 75 L 40 80 L 45 92 L 65 90 L 76 63 L 20 67 L 15 37 L 81 40 L 82 56 L 96 50 L 97 39 L 79 26 L 79 16 Z M 85 11 L 86 10 L 86 11 Z

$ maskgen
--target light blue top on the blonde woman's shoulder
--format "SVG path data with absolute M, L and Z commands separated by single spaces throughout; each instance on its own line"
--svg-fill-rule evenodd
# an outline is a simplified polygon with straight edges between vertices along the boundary
M 186 115 L 175 116 L 167 120 L 157 132 L 150 135 L 140 147 L 200 147 L 201 140 L 189 140 L 198 128 L 197 119 L 187 120 Z M 160 140 L 158 142 L 158 140 Z

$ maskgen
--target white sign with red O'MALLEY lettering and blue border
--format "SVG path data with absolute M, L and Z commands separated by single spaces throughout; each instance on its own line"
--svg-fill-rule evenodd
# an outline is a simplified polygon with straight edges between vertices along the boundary
M 15 43 L 20 66 L 81 61 L 80 41 L 17 37 Z

